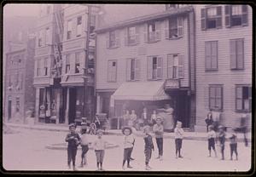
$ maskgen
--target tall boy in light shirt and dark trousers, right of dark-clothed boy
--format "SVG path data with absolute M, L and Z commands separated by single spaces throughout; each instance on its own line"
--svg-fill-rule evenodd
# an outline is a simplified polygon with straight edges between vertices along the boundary
M 161 117 L 156 117 L 156 123 L 153 126 L 153 132 L 155 134 L 155 141 L 156 141 L 156 145 L 159 151 L 159 155 L 157 158 L 161 160 L 163 160 L 163 143 L 164 143 L 164 139 L 163 139 L 163 134 L 164 134 L 164 126 L 161 124 L 162 123 L 162 119 Z

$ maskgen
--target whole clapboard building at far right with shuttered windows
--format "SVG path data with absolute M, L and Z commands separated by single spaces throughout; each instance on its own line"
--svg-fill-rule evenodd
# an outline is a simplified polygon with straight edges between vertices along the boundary
M 247 5 L 195 5 L 196 126 L 206 131 L 214 112 L 238 127 L 252 111 L 252 9 Z

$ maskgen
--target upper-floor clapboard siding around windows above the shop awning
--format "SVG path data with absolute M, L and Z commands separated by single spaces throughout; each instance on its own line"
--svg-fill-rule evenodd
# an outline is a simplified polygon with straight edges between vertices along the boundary
M 102 33 L 97 35 L 96 46 L 96 89 L 116 89 L 121 83 L 126 81 L 126 60 L 136 58 L 141 60 L 140 81 L 147 81 L 147 57 L 160 56 L 163 58 L 163 78 L 167 78 L 167 54 L 182 54 L 184 56 L 184 78 L 181 80 L 182 87 L 189 87 L 188 70 L 188 22 L 187 18 L 183 20 L 184 35 L 178 39 L 168 40 L 165 38 L 165 24 L 160 22 L 161 40 L 157 43 L 143 42 L 143 25 L 138 26 L 140 31 L 140 43 L 135 46 L 125 46 L 125 28 L 119 30 L 120 47 L 116 49 L 107 49 L 106 35 Z M 99 43 L 102 43 L 100 45 Z M 117 60 L 117 82 L 107 82 L 107 61 Z

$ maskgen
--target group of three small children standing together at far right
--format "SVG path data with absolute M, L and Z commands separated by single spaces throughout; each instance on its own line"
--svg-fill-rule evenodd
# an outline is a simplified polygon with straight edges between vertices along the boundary
M 227 135 L 225 133 L 224 126 L 222 125 L 218 126 L 218 133 L 214 131 L 214 128 L 212 125 L 209 126 L 209 131 L 207 133 L 209 157 L 211 157 L 211 150 L 214 151 L 215 157 L 217 157 L 217 152 L 215 150 L 215 142 L 219 141 L 221 159 L 224 160 L 224 147 L 225 147 L 226 136 Z M 229 139 L 230 139 L 230 160 L 233 160 L 234 152 L 236 154 L 236 160 L 238 160 L 236 133 L 233 132 Z

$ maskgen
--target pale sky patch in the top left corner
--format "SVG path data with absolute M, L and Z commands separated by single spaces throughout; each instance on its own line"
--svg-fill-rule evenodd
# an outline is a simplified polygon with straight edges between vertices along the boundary
M 3 16 L 38 16 L 40 4 L 9 3 L 3 6 Z

